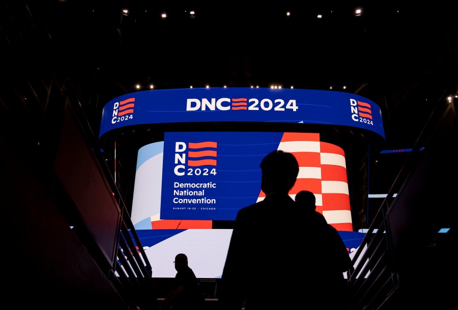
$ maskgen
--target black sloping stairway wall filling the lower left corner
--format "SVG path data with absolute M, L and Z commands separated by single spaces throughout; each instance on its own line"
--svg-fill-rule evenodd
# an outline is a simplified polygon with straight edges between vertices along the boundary
M 4 302 L 18 308 L 125 310 L 28 163 L 4 139 L 0 149 Z

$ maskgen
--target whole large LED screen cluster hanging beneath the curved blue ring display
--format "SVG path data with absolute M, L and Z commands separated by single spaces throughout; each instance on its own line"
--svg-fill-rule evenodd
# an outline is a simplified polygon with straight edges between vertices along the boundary
M 291 197 L 312 191 L 349 255 L 359 246 L 363 234 L 353 232 L 344 151 L 319 133 L 165 132 L 163 141 L 138 151 L 131 212 L 153 277 L 175 277 L 172 262 L 180 252 L 198 278 L 221 276 L 231 223 L 241 208 L 264 199 L 260 163 L 274 150 L 299 162 Z

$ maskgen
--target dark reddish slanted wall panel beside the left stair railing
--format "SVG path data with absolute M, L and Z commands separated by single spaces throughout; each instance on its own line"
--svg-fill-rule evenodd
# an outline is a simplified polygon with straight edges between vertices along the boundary
M 120 222 L 120 208 L 97 158 L 92 154 L 77 125 L 70 103 L 64 110 L 64 124 L 54 163 L 62 182 L 97 245 L 110 266 L 114 266 Z

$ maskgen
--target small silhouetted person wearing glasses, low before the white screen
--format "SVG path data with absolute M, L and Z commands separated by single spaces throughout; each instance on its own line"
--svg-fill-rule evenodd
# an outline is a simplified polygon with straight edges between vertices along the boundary
M 199 290 L 197 278 L 188 266 L 188 258 L 180 253 L 175 257 L 175 269 L 177 274 L 173 286 L 161 302 L 161 309 L 173 310 L 200 310 L 203 306 L 204 297 Z

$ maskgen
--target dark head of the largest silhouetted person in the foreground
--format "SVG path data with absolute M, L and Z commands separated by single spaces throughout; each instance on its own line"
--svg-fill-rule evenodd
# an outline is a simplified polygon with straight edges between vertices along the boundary
M 261 189 L 264 193 L 288 193 L 296 183 L 299 163 L 292 153 L 273 151 L 261 161 Z

